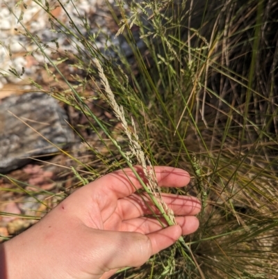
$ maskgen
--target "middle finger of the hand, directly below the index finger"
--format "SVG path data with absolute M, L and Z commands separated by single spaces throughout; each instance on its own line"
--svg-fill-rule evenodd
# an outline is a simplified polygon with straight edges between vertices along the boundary
M 196 215 L 201 210 L 201 202 L 197 198 L 169 193 L 163 193 L 161 196 L 175 215 Z M 129 220 L 148 214 L 160 214 L 160 212 L 145 195 L 133 194 L 118 200 L 117 214 L 121 220 Z

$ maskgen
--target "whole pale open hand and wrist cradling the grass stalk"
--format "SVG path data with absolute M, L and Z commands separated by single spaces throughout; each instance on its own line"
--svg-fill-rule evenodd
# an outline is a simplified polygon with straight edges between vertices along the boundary
M 140 167 L 136 170 L 144 177 Z M 155 172 L 159 186 L 181 187 L 190 181 L 179 168 L 158 166 Z M 124 169 L 75 191 L 32 228 L 0 246 L 0 278 L 109 278 L 117 269 L 144 264 L 182 234 L 197 230 L 201 205 L 196 198 L 163 194 L 177 225 L 162 228 L 146 216 L 152 211 L 134 193 L 140 188 L 132 171 Z

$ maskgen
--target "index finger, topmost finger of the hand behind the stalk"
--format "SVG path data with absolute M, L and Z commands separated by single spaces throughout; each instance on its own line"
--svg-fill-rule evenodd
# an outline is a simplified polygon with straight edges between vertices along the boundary
M 146 184 L 147 179 L 142 171 L 142 167 L 135 166 L 134 169 Z M 155 166 L 154 171 L 156 173 L 158 186 L 161 187 L 181 187 L 190 182 L 188 172 L 186 172 L 186 170 L 181 170 L 180 168 Z M 105 193 L 106 196 L 107 194 L 111 194 L 117 199 L 129 196 L 137 189 L 142 188 L 138 178 L 130 168 L 124 168 L 123 170 L 117 170 L 108 175 L 104 175 L 93 182 L 93 184 L 95 191 Z

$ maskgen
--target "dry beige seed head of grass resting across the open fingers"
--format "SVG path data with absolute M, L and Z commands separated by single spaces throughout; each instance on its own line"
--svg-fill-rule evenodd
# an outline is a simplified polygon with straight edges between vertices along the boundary
M 154 167 L 152 166 L 152 163 L 149 161 L 149 158 L 145 157 L 145 154 L 142 151 L 141 145 L 139 143 L 138 134 L 136 133 L 136 125 L 134 123 L 134 120 L 131 117 L 131 125 L 133 127 L 133 131 L 131 131 L 131 129 L 129 129 L 127 125 L 126 118 L 124 116 L 124 108 L 119 104 L 117 104 L 115 100 L 115 95 L 113 94 L 111 87 L 109 86 L 106 75 L 104 74 L 103 67 L 101 66 L 101 64 L 97 59 L 95 59 L 94 62 L 95 65 L 97 66 L 97 70 L 99 71 L 101 84 L 104 86 L 105 89 L 106 95 L 104 95 L 104 97 L 106 99 L 106 102 L 110 104 L 111 108 L 115 113 L 115 116 L 122 123 L 122 127 L 124 128 L 124 134 L 126 134 L 127 138 L 129 139 L 130 152 L 125 152 L 124 153 L 125 157 L 126 159 L 129 160 L 129 163 L 131 163 L 131 156 L 136 157 L 136 159 L 138 160 L 138 164 L 142 166 L 143 173 L 148 180 L 146 184 L 147 189 L 145 189 L 145 185 L 142 185 L 143 188 L 147 191 L 148 194 L 152 193 L 152 196 L 156 200 L 156 207 L 158 207 L 158 210 L 161 212 L 161 214 L 163 215 L 166 214 L 167 217 L 170 219 L 171 222 L 170 223 L 168 222 L 169 225 L 174 225 L 176 224 L 176 221 L 174 219 L 174 213 L 172 212 L 172 209 L 170 209 L 161 198 L 161 187 L 158 186 L 158 182 L 156 180 L 156 175 L 154 173 Z M 149 166 L 149 168 L 147 166 Z

